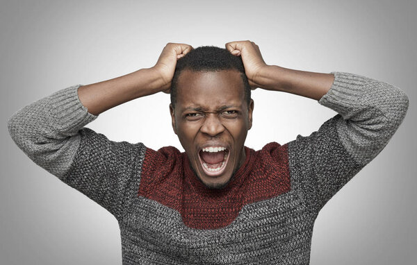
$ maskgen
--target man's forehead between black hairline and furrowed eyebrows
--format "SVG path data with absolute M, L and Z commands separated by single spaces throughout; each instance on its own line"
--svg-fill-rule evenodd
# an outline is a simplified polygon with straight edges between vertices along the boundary
M 245 101 L 243 80 L 237 70 L 183 70 L 177 83 L 179 108 L 215 109 L 224 105 L 242 106 Z

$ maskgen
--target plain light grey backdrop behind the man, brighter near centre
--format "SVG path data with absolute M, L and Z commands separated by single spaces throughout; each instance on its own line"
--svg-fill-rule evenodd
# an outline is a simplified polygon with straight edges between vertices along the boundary
M 154 66 L 167 42 L 259 45 L 268 65 L 348 71 L 402 88 L 404 122 L 320 212 L 311 264 L 416 264 L 416 1 L 1 1 L 0 264 L 121 264 L 116 219 L 29 160 L 7 119 L 70 85 Z M 256 89 L 246 145 L 310 135 L 336 112 Z M 87 127 L 114 141 L 183 150 L 159 93 Z M 272 122 L 272 123 L 271 123 Z

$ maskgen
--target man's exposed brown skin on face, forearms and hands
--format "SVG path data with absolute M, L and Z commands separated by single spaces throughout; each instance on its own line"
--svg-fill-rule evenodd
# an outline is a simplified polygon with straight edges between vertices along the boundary
M 267 65 L 259 46 L 250 40 L 227 42 L 226 49 L 235 56 L 241 56 L 250 87 L 287 92 L 318 101 L 332 87 L 333 74 L 298 71 Z M 88 112 L 98 115 L 117 105 L 148 96 L 157 92 L 170 92 L 177 60 L 193 46 L 168 43 L 151 68 L 134 71 L 131 74 L 79 87 L 81 103 Z M 233 172 L 245 161 L 243 144 L 247 130 L 252 126 L 253 101 L 248 106 L 243 99 L 243 81 L 236 71 L 218 73 L 181 73 L 179 76 L 177 105 L 170 106 L 172 126 L 190 158 L 197 177 L 208 187 L 224 187 Z M 225 106 L 233 105 L 238 116 L 231 119 L 233 112 L 225 112 Z M 197 114 L 183 117 L 184 108 L 192 107 Z M 199 117 L 190 121 L 190 116 Z M 229 118 L 227 118 L 229 117 Z M 199 148 L 219 144 L 228 148 L 229 162 L 220 173 L 204 171 L 199 162 Z M 198 159 L 198 160 L 197 160 Z

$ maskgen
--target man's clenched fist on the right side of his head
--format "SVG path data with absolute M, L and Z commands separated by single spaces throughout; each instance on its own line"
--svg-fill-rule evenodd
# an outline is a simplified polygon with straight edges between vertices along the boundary
M 268 67 L 262 58 L 259 46 L 250 40 L 227 42 L 226 49 L 231 54 L 240 56 L 242 55 L 243 67 L 245 67 L 245 74 L 249 81 L 251 89 L 261 87 L 260 73 Z

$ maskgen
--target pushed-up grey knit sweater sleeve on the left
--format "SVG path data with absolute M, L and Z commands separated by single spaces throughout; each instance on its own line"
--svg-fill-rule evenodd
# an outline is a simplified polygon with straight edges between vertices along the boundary
M 138 187 L 143 144 L 113 142 L 84 127 L 97 119 L 74 85 L 26 105 L 8 120 L 17 146 L 49 173 L 120 218 Z

